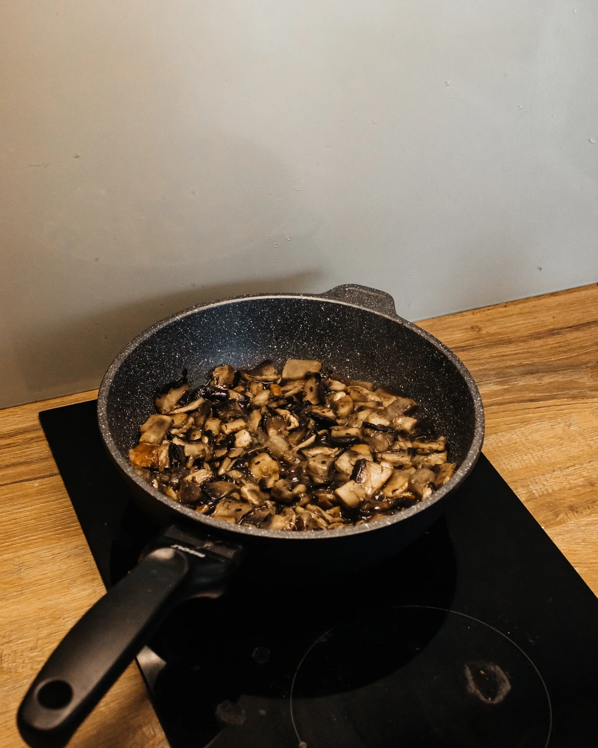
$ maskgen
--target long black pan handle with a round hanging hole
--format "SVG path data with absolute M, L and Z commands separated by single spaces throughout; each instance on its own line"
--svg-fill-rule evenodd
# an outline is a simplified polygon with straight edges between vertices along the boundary
M 19 707 L 17 725 L 29 746 L 65 746 L 178 601 L 222 591 L 240 549 L 228 548 L 223 554 L 205 545 L 197 548 L 197 543 L 191 548 L 170 539 L 169 545 L 147 554 L 73 626 Z

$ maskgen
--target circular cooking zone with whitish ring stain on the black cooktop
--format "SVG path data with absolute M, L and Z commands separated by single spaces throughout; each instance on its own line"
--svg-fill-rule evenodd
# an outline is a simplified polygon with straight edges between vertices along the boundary
M 318 638 L 290 710 L 300 748 L 546 748 L 552 706 L 531 658 L 465 613 L 377 610 Z

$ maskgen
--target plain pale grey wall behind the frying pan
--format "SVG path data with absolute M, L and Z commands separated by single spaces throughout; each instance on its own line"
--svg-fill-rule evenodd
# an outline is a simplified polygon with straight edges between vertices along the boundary
M 598 280 L 590 0 L 0 0 L 0 405 L 197 301 Z

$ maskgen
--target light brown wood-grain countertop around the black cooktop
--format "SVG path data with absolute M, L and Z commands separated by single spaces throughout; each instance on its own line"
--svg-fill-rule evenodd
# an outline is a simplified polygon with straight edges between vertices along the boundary
M 598 285 L 419 323 L 472 372 L 484 453 L 598 594 Z M 104 592 L 37 420 L 95 391 L 0 411 L 0 735 L 53 647 Z M 166 748 L 135 665 L 70 743 Z

